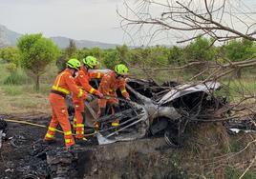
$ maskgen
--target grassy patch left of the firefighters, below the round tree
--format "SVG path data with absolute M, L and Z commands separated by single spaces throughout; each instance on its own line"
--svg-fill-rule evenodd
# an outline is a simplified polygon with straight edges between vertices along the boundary
M 53 85 L 53 78 L 56 75 L 56 68 L 50 66 L 50 69 L 41 77 L 40 90 L 35 91 L 32 80 L 21 69 L 17 70 L 18 75 L 27 80 L 24 80 L 21 85 L 5 85 L 6 79 L 10 76 L 7 66 L 8 64 L 0 63 L 0 114 L 50 113 L 48 95 Z

